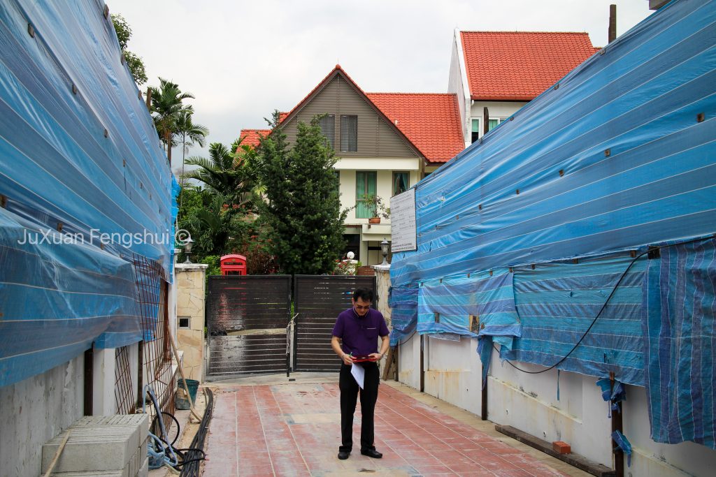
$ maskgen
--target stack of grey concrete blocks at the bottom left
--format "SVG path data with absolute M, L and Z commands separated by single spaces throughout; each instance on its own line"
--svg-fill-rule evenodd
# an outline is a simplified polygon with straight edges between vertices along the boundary
M 89 415 L 42 446 L 42 473 L 71 431 L 52 476 L 146 477 L 149 416 Z

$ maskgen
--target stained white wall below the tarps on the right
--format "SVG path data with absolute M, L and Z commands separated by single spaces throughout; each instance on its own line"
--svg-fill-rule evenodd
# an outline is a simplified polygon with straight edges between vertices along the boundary
M 400 345 L 398 379 L 420 389 L 420 335 Z M 482 366 L 476 353 L 477 340 L 459 342 L 422 337 L 425 393 L 480 414 Z M 525 370 L 544 369 L 516 363 Z M 566 441 L 572 451 L 591 461 L 612 467 L 611 421 L 594 376 L 556 370 L 531 375 L 501 363 L 496 353 L 488 376 L 488 418 L 513 426 L 545 441 Z M 559 400 L 557 400 L 559 384 Z M 712 476 L 716 451 L 695 443 L 655 443 L 649 437 L 646 390 L 627 386 L 623 403 L 624 435 L 632 443 L 629 477 Z

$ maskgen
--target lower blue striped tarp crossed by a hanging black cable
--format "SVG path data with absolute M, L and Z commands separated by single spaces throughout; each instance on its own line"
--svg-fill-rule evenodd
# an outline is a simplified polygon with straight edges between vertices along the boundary
M 502 358 L 551 366 L 574 348 L 634 260 L 630 253 L 515 269 L 521 338 Z M 644 385 L 642 282 L 647 257 L 629 270 L 584 341 L 558 368 Z

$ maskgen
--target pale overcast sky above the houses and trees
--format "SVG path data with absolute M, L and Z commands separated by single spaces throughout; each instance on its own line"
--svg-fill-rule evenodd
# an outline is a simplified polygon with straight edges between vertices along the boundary
M 447 92 L 455 28 L 586 31 L 606 44 L 646 18 L 647 0 L 108 0 L 132 27 L 148 84 L 190 92 L 209 142 L 265 128 L 339 63 L 366 92 Z M 146 89 L 147 84 L 143 86 Z M 206 154 L 193 149 L 190 154 Z M 175 151 L 174 157 L 181 157 Z M 174 164 L 180 164 L 173 161 Z

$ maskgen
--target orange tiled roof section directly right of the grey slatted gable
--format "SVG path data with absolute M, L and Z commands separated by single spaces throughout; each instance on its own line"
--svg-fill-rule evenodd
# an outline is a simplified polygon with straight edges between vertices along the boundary
M 447 162 L 465 149 L 455 94 L 367 93 L 429 162 Z

